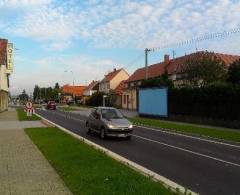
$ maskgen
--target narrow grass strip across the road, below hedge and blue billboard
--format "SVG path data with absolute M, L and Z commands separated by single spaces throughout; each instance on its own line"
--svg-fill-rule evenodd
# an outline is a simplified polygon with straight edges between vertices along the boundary
M 194 134 L 198 136 L 208 136 L 211 138 L 223 139 L 227 141 L 240 142 L 240 130 L 231 130 L 231 129 L 218 129 L 218 128 L 208 128 L 200 127 L 197 125 L 191 124 L 179 124 L 171 121 L 163 121 L 157 119 L 148 119 L 148 118 L 130 118 L 129 119 L 134 124 L 146 125 L 154 128 L 163 128 L 169 130 L 175 130 L 183 133 Z

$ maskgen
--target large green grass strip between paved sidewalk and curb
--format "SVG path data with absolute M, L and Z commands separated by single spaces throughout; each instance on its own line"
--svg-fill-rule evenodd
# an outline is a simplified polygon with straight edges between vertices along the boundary
M 73 194 L 174 194 L 57 128 L 25 131 Z

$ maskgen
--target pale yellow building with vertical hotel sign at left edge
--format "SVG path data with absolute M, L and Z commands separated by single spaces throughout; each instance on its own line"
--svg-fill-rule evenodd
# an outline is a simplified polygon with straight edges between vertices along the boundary
M 9 76 L 13 72 L 13 44 L 0 39 L 0 112 L 8 109 Z

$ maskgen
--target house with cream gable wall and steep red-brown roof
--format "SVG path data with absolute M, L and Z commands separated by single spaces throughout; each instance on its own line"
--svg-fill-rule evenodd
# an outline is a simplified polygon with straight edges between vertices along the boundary
M 118 85 L 129 78 L 129 74 L 123 68 L 113 69 L 112 72 L 106 74 L 99 83 L 99 91 L 109 93 L 114 91 Z

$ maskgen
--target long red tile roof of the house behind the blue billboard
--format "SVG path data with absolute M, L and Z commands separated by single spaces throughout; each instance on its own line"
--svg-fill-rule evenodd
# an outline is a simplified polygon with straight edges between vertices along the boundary
M 170 60 L 168 63 L 161 62 L 157 64 L 150 65 L 148 67 L 148 77 L 154 78 L 162 75 L 165 70 L 167 70 L 168 74 L 173 73 L 180 73 L 182 70 L 183 65 L 186 63 L 187 60 L 197 57 L 201 55 L 203 52 L 196 52 L 189 55 L 181 56 L 175 59 Z M 228 67 L 231 63 L 235 60 L 240 59 L 240 56 L 236 55 L 228 55 L 228 54 L 220 54 L 220 53 L 212 53 L 217 58 L 223 60 Z M 131 81 L 139 81 L 145 79 L 145 67 L 137 69 L 127 80 L 127 82 Z

